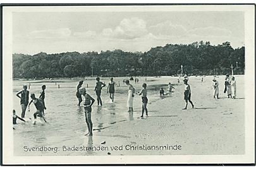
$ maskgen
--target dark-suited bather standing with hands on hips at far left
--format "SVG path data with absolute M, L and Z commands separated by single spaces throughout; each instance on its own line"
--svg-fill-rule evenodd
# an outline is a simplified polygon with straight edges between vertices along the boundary
M 25 118 L 25 113 L 26 113 L 26 109 L 28 106 L 28 95 L 29 95 L 29 91 L 27 90 L 28 86 L 24 85 L 23 86 L 23 90 L 21 90 L 20 92 L 18 92 L 16 94 L 16 96 L 18 98 L 20 98 L 20 106 L 21 106 L 21 118 Z M 21 94 L 21 96 L 20 96 Z

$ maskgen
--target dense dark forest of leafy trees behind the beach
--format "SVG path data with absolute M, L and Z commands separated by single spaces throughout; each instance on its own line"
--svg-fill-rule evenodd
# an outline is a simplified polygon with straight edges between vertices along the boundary
M 245 47 L 232 48 L 229 42 L 210 45 L 166 44 L 148 52 L 64 52 L 61 54 L 13 54 L 13 78 L 85 76 L 175 76 L 244 74 Z

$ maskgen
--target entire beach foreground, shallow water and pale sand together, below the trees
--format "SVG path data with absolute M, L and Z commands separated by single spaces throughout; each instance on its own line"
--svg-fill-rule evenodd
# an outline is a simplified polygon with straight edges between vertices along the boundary
M 13 131 L 15 156 L 107 156 L 107 155 L 207 155 L 245 154 L 245 87 L 244 76 L 236 77 L 236 99 L 229 99 L 224 91 L 224 76 L 217 76 L 219 97 L 213 98 L 212 79 L 214 76 L 190 76 L 188 84 L 192 91 L 195 108 L 185 106 L 183 77 L 139 77 L 131 84 L 136 91 L 148 84 L 149 116 L 140 118 L 141 97 L 135 95 L 134 112 L 128 113 L 126 99 L 128 88 L 123 84 L 126 77 L 114 77 L 120 83 L 116 87 L 115 101 L 109 102 L 106 89 L 102 91 L 103 107 L 98 108 L 97 100 L 92 107 L 93 136 L 85 136 L 87 126 L 83 108 L 76 106 L 75 87 L 78 81 L 52 82 L 34 81 L 30 92 L 39 96 L 40 86 L 46 84 L 46 120 L 44 125 L 20 123 Z M 109 78 L 102 78 L 106 83 Z M 88 82 L 88 88 L 87 88 Z M 159 96 L 168 83 L 175 89 L 171 95 Z M 19 100 L 15 93 L 21 84 L 14 82 L 14 109 L 20 113 Z M 85 80 L 84 86 L 94 99 L 94 80 Z M 32 117 L 33 104 L 26 117 Z M 35 151 L 24 149 L 36 147 Z M 40 147 L 58 148 L 45 151 Z M 72 149 L 73 147 L 73 149 Z M 75 149 L 75 148 L 78 149 Z M 81 147 L 81 149 L 80 149 Z M 179 148 L 179 149 L 178 149 Z M 27 151 L 26 151 L 27 150 Z

